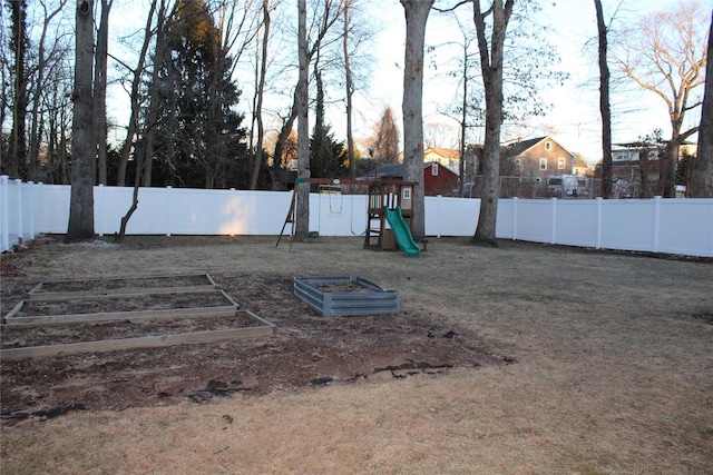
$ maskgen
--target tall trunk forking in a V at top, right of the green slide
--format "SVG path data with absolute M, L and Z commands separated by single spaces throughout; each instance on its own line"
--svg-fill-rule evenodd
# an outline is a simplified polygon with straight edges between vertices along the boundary
M 480 51 L 480 70 L 486 95 L 486 137 L 482 151 L 482 194 L 480 216 L 471 244 L 495 246 L 496 220 L 498 216 L 500 175 L 500 127 L 502 126 L 502 57 L 505 36 L 512 12 L 514 0 L 495 0 L 490 10 L 492 32 L 490 42 L 486 39 L 486 14 L 480 9 L 480 0 L 473 1 L 473 22 Z M 490 49 L 488 49 L 488 44 Z

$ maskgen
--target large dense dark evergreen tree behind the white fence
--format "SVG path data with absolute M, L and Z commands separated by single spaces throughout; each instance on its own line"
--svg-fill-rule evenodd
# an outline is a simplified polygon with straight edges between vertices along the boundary
M 241 91 L 205 2 L 177 2 L 164 34 L 167 47 L 155 61 L 160 82 L 156 149 L 163 151 L 164 180 L 183 187 L 235 186 L 236 161 L 244 161 L 247 150 L 243 116 L 234 109 Z M 225 180 L 226 175 L 233 178 Z

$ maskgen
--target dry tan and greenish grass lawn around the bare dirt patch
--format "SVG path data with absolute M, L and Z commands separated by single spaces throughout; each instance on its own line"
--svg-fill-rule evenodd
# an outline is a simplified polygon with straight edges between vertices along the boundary
M 358 275 L 511 365 L 2 425 L 3 474 L 710 474 L 713 264 L 466 239 L 129 237 L 17 257 L 42 280 Z M 10 279 L 10 280 L 9 280 Z M 6 304 L 3 303 L 3 308 Z

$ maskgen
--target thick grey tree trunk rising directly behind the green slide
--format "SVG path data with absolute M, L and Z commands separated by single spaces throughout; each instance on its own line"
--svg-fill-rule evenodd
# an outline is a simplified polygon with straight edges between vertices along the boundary
M 426 236 L 423 217 L 423 43 L 433 0 L 401 0 L 406 14 L 403 68 L 403 178 L 414 181 L 411 232 Z

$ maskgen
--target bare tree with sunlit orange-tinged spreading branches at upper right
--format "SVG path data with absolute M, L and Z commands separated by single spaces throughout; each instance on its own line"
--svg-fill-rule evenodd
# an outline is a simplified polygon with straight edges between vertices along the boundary
M 644 17 L 636 29 L 625 31 L 624 51 L 614 60 L 619 71 L 667 107 L 671 139 L 660 159 L 665 197 L 675 196 L 680 146 L 699 129 L 683 126 L 686 113 L 701 106 L 693 93 L 705 80 L 706 27 L 702 3 L 681 1 L 674 11 Z

